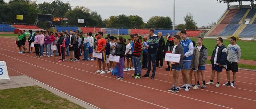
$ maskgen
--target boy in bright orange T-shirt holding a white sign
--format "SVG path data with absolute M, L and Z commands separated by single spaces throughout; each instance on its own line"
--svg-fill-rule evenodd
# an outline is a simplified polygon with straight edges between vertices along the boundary
M 99 64 L 99 70 L 97 73 L 100 74 L 105 74 L 105 69 L 106 69 L 106 40 L 103 38 L 103 32 L 98 32 L 98 42 L 97 42 L 97 47 L 95 48 L 95 53 L 102 53 L 102 59 L 98 59 L 98 64 Z M 103 65 L 103 70 L 101 71 L 101 63 Z

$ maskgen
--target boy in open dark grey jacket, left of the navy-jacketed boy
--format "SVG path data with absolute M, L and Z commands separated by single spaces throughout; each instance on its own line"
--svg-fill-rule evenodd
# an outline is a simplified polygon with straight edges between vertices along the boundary
M 199 80 L 200 80 L 200 73 L 202 75 L 202 81 L 203 84 L 201 86 L 201 89 L 205 89 L 205 75 L 204 75 L 204 71 L 205 71 L 205 61 L 207 60 L 208 57 L 208 51 L 207 48 L 203 45 L 203 38 L 202 37 L 198 37 L 197 38 L 197 48 L 199 50 L 199 64 L 198 64 L 198 70 L 197 70 L 197 86 L 200 86 L 199 84 Z

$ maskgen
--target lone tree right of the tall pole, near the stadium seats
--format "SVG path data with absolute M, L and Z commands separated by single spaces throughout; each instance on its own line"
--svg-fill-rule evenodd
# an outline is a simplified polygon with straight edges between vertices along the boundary
M 193 20 L 193 15 L 190 12 L 187 13 L 183 21 L 185 22 L 185 29 L 198 29 L 196 22 Z

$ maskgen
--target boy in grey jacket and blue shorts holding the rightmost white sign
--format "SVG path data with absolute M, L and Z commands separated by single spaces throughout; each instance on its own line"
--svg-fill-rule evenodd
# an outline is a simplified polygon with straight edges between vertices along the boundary
M 170 49 L 172 54 L 180 54 L 180 63 L 174 63 L 174 62 L 170 62 L 170 68 L 172 69 L 172 77 L 173 77 L 173 85 L 172 88 L 168 89 L 168 91 L 172 91 L 173 93 L 177 93 L 179 92 L 179 84 L 180 84 L 180 71 L 181 71 L 181 67 L 182 67 L 182 60 L 183 60 L 183 54 L 184 54 L 184 50 L 183 47 L 180 45 L 180 36 L 179 35 L 175 35 L 173 36 L 173 43 L 175 45 L 173 45 Z M 176 86 L 177 83 L 177 86 Z

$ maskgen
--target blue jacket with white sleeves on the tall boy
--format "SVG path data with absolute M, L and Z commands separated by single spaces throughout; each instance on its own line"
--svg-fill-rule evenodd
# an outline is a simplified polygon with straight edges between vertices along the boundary
M 180 41 L 180 45 L 184 49 L 183 61 L 192 61 L 194 46 L 192 41 L 187 37 L 185 40 Z

